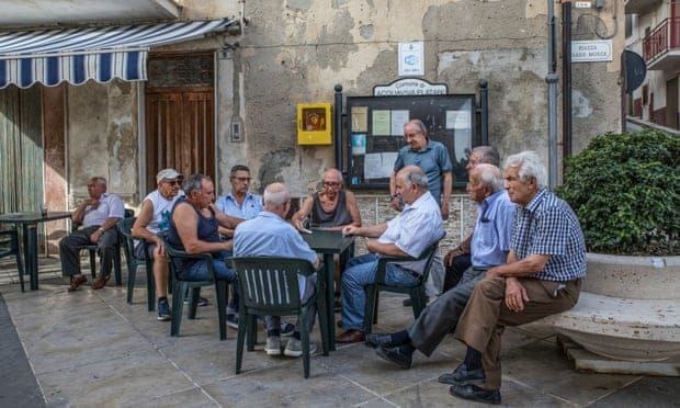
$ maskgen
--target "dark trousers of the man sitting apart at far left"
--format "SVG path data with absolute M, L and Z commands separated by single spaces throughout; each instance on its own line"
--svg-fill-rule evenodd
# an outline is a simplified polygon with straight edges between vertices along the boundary
M 80 273 L 80 251 L 90 245 L 90 236 L 99 229 L 99 225 L 80 228 L 59 241 L 59 258 L 61 259 L 61 273 L 64 276 L 72 276 Z M 109 276 L 113 265 L 115 245 L 118 242 L 118 231 L 109 228 L 97 241 L 99 257 L 102 261 L 101 275 Z

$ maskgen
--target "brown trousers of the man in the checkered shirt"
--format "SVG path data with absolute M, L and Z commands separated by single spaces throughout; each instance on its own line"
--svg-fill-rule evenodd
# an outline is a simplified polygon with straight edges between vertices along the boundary
M 475 286 L 456 327 L 456 339 L 481 353 L 486 389 L 500 388 L 500 337 L 506 326 L 539 320 L 568 310 L 578 302 L 580 280 L 549 282 L 520 277 L 519 281 L 529 296 L 522 311 L 512 311 L 506 306 L 505 277 L 487 277 Z

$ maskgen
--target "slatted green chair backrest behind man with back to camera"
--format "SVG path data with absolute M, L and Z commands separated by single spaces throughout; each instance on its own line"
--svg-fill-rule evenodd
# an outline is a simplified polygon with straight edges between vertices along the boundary
M 241 291 L 240 302 L 260 310 L 301 307 L 297 275 L 310 275 L 314 265 L 304 259 L 279 257 L 233 258 Z

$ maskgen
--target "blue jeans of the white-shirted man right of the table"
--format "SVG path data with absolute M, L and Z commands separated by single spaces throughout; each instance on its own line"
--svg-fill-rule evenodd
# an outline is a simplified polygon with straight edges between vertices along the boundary
M 342 328 L 344 330 L 363 330 L 366 292 L 364 287 L 375 282 L 378 257 L 366 253 L 352 258 L 342 273 Z M 394 286 L 415 284 L 416 277 L 399 265 L 388 263 L 385 283 Z

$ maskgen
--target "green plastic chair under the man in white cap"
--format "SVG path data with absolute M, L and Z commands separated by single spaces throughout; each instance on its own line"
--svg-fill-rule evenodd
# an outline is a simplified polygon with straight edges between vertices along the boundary
M 135 240 L 133 239 L 132 228 L 137 217 L 124 218 L 118 222 L 117 228 L 121 237 L 123 237 L 123 252 L 127 262 L 127 303 L 133 304 L 133 294 L 135 293 L 135 281 L 137 279 L 137 268 L 144 267 L 146 270 L 146 288 L 147 288 L 147 308 L 149 311 L 156 309 L 156 282 L 154 281 L 154 259 L 148 257 L 137 258 L 135 256 Z M 139 243 L 145 247 L 147 242 L 141 240 Z

